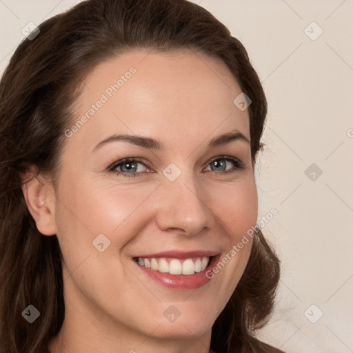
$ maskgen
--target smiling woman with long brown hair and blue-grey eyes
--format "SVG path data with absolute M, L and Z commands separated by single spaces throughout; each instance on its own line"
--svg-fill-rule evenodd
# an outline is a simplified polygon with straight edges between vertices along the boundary
M 194 3 L 43 22 L 0 86 L 0 352 L 281 352 L 256 339 L 280 270 L 256 224 L 266 112 Z

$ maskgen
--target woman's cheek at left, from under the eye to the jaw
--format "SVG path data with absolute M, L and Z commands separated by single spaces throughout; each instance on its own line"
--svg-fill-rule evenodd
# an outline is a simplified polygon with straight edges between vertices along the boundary
M 128 270 L 117 257 L 121 249 L 148 225 L 151 212 L 146 201 L 157 186 L 146 183 L 141 188 L 138 183 L 127 186 L 85 178 L 78 183 L 72 173 L 58 190 L 60 201 L 56 221 L 63 270 L 67 272 L 64 276 L 92 301 L 103 303 L 112 296 L 113 303 L 124 295 L 119 285 L 112 284 L 128 278 Z M 99 234 L 104 234 L 110 241 L 103 252 L 92 244 Z M 74 274 L 69 277 L 68 273 L 72 272 Z M 70 281 L 66 283 L 68 288 L 72 285 Z

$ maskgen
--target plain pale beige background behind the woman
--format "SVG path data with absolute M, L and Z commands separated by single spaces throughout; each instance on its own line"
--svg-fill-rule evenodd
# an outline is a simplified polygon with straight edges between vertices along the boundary
M 283 277 L 261 339 L 288 353 L 353 352 L 353 1 L 194 2 L 243 42 L 270 107 L 256 175 L 259 219 L 279 212 L 263 233 Z M 1 72 L 23 26 L 75 3 L 0 0 Z

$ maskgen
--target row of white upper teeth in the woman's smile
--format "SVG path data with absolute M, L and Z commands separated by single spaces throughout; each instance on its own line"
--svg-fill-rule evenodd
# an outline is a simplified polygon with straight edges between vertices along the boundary
M 210 257 L 195 257 L 192 259 L 166 259 L 161 257 L 158 259 L 143 259 L 139 257 L 137 262 L 141 266 L 157 270 L 159 272 L 169 272 L 170 274 L 194 274 L 205 270 Z

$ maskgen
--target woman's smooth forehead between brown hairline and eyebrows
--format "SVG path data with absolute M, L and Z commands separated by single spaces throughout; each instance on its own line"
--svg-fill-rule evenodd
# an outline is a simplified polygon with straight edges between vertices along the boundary
M 248 111 L 233 103 L 239 84 L 225 63 L 203 53 L 134 50 L 101 63 L 84 83 L 72 121 L 86 118 L 77 142 L 121 132 L 180 143 L 234 128 L 250 139 Z

